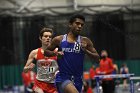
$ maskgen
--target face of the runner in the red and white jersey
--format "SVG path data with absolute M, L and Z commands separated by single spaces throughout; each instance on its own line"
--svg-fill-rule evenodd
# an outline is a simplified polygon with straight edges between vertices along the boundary
M 44 45 L 48 45 L 51 42 L 52 39 L 52 33 L 51 32 L 44 32 L 43 36 L 41 38 L 41 42 Z

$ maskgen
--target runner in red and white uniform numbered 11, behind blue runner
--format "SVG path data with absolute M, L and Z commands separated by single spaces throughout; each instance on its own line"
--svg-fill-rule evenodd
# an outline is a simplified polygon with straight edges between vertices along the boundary
M 37 66 L 37 77 L 33 87 L 35 93 L 57 93 L 54 85 L 55 74 L 58 72 L 57 57 L 44 57 L 44 50 L 51 42 L 52 34 L 53 30 L 50 28 L 43 28 L 40 31 L 39 39 L 42 47 L 31 51 L 24 67 L 24 72 L 27 72 L 32 70 L 35 64 Z

